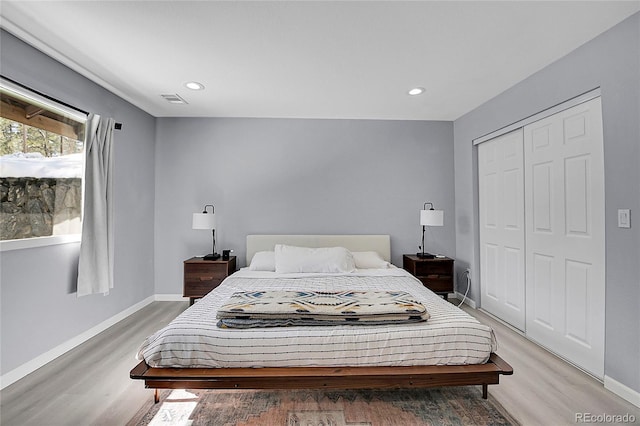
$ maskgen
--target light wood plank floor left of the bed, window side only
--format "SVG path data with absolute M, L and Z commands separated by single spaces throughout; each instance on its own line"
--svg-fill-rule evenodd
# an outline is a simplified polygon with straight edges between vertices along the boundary
M 124 425 L 153 396 L 129 379 L 136 350 L 188 306 L 154 302 L 6 387 L 0 425 Z

